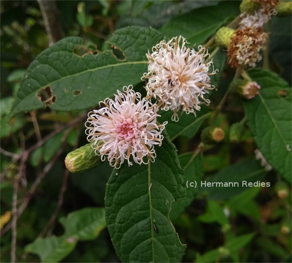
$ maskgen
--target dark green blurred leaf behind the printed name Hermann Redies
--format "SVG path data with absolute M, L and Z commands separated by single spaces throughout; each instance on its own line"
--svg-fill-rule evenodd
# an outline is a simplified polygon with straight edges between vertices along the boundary
M 228 166 L 207 180 L 210 183 L 223 183 L 223 185 L 224 183 L 235 184 L 230 184 L 229 187 L 219 187 L 219 185 L 216 186 L 215 184 L 213 187 L 203 186 L 200 193 L 208 192 L 208 199 L 211 200 L 226 200 L 242 193 L 249 188 L 248 183 L 262 180 L 266 174 L 267 172 L 260 166 L 258 161 L 248 158 Z

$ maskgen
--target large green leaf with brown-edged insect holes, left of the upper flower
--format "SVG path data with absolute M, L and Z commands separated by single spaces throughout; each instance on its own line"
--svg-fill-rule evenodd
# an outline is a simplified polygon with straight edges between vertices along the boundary
M 62 111 L 98 105 L 117 89 L 141 82 L 147 71 L 145 54 L 162 38 L 152 28 L 133 26 L 117 30 L 109 42 L 122 52 L 124 59 L 118 59 L 111 50 L 97 53 L 82 46 L 80 37 L 60 40 L 40 53 L 28 68 L 12 116 L 46 105 Z M 42 98 L 42 90 L 46 91 L 46 98 Z

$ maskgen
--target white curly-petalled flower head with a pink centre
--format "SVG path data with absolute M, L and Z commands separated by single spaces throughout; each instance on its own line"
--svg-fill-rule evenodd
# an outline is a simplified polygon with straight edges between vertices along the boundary
M 117 90 L 113 99 L 106 99 L 100 109 L 89 112 L 85 123 L 87 140 L 92 142 L 96 155 L 104 161 L 108 158 L 110 165 L 116 169 L 130 157 L 138 164 L 154 162 L 156 157 L 154 145 L 161 146 L 161 134 L 165 123 L 158 125 L 158 106 L 132 86 L 124 87 L 124 92 Z

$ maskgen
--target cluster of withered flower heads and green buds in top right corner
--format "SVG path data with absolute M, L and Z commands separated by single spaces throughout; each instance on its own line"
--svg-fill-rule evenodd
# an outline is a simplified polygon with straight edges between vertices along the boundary
M 234 68 L 255 67 L 261 60 L 268 34 L 263 26 L 272 16 L 292 13 L 292 2 L 279 0 L 243 0 L 240 4 L 240 22 L 237 30 L 221 28 L 216 43 L 228 49 L 229 65 Z

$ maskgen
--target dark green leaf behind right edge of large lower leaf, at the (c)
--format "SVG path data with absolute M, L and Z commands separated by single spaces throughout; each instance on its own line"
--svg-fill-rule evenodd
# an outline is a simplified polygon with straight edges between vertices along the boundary
M 189 187 L 186 189 L 186 196 L 182 199 L 179 199 L 177 202 L 171 204 L 171 210 L 169 213 L 169 218 L 171 221 L 177 219 L 181 213 L 192 203 L 196 197 L 199 189 L 200 182 L 202 177 L 202 156 L 198 154 L 195 158 L 193 153 L 182 154 L 179 156 L 181 166 L 184 173 L 184 181 L 197 182 L 197 187 Z

